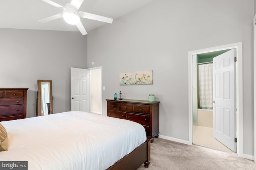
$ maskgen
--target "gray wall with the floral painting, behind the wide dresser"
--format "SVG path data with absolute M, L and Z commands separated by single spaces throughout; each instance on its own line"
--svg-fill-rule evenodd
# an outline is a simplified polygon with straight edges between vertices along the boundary
M 220 5 L 221 4 L 221 5 Z M 188 51 L 243 42 L 244 154 L 254 155 L 254 1 L 156 0 L 88 33 L 88 68 L 102 66 L 106 99 L 160 101 L 160 135 L 188 141 Z M 119 73 L 153 70 L 153 85 L 120 86 Z

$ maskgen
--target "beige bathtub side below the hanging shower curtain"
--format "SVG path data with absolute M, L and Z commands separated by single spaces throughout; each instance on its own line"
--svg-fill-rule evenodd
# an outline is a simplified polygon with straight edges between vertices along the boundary
M 197 125 L 212 128 L 212 125 L 213 125 L 212 110 L 197 109 Z

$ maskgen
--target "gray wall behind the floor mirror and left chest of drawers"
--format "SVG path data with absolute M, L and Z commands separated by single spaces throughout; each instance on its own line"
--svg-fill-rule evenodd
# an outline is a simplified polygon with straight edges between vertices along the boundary
M 29 88 L 27 117 L 36 116 L 36 80 L 52 80 L 53 111 L 70 111 L 70 67 L 86 68 L 80 32 L 0 29 L 0 87 Z

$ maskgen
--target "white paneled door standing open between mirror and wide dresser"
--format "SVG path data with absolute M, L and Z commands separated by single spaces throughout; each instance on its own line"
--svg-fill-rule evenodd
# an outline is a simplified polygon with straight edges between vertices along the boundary
M 70 69 L 71 72 L 71 111 L 90 111 L 89 70 Z

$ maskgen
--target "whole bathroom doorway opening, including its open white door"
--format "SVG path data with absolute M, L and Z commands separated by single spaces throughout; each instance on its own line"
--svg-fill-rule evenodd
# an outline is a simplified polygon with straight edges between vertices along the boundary
M 236 143 L 234 140 L 230 140 L 236 137 L 236 63 L 233 61 L 235 57 L 236 49 L 212 51 L 192 56 L 193 89 L 195 89 L 193 92 L 192 113 L 194 145 L 200 145 L 224 152 L 236 152 Z M 224 64 L 224 59 L 226 59 L 228 63 Z M 220 61 L 218 63 L 223 64 L 222 68 L 216 68 L 216 61 Z M 227 67 L 230 67 L 229 70 L 227 70 Z M 216 74 L 217 70 L 219 72 L 218 74 Z M 225 74 L 228 74 L 228 76 L 222 76 L 222 78 L 220 78 L 220 75 Z M 220 83 L 221 79 L 224 79 L 222 83 Z M 225 82 L 228 82 L 226 85 L 227 88 L 223 88 L 223 92 L 220 92 L 222 90 L 219 89 L 219 86 L 216 88 L 216 84 L 224 84 Z M 220 94 L 223 94 L 222 97 Z M 225 98 L 224 94 L 227 94 Z M 215 100 L 219 103 L 215 103 Z M 226 102 L 228 100 L 233 102 L 231 106 L 229 104 L 230 102 Z M 225 106 L 221 108 L 220 106 L 222 105 Z M 229 112 L 226 112 L 228 115 L 223 111 L 218 112 L 216 108 L 219 111 L 228 109 Z M 225 119 L 224 117 L 221 117 L 222 115 L 226 115 Z M 234 115 L 234 117 L 231 118 L 231 115 Z M 226 120 L 226 118 L 229 119 L 225 122 L 224 120 Z M 234 122 L 234 124 L 229 125 L 230 122 Z M 222 128 L 224 129 L 225 123 L 228 124 L 226 125 L 229 129 L 228 134 L 224 134 L 224 130 L 221 131 Z M 221 124 L 223 124 L 223 127 L 221 127 Z M 227 140 L 229 140 L 227 142 L 226 136 L 228 136 Z

